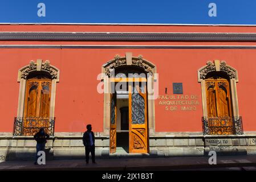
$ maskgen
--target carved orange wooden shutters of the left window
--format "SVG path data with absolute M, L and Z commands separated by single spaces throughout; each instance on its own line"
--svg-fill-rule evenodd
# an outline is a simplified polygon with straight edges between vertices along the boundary
M 39 127 L 48 127 L 50 117 L 50 99 L 51 80 L 27 80 L 25 109 L 23 114 L 24 135 L 33 135 Z

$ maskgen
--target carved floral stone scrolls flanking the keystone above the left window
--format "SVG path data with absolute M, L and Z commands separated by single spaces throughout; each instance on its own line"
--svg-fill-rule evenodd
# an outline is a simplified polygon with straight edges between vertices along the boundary
M 34 61 L 30 61 L 30 64 L 21 70 L 21 78 L 26 79 L 30 72 L 36 71 L 36 64 L 37 63 Z M 56 79 L 58 77 L 58 70 L 50 65 L 50 61 L 45 61 L 42 63 L 40 70 L 48 72 L 52 79 Z

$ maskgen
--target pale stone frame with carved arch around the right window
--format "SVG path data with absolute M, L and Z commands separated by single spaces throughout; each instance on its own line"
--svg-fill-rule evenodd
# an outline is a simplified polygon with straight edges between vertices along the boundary
M 230 79 L 230 91 L 231 91 L 231 107 L 233 109 L 233 117 L 239 117 L 238 110 L 238 98 L 237 98 L 237 85 L 238 82 L 238 73 L 237 70 L 227 65 L 225 61 L 214 60 L 208 61 L 206 65 L 198 69 L 198 82 L 201 82 L 201 92 L 202 92 L 202 109 L 203 117 L 208 116 L 207 102 L 206 102 L 206 87 L 205 87 L 205 78 L 206 75 L 210 72 L 225 72 Z

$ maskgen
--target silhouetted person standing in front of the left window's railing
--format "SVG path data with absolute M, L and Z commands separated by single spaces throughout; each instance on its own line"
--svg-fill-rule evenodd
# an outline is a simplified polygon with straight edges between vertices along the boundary
M 44 151 L 44 147 L 46 146 L 46 142 L 49 137 L 50 136 L 44 132 L 43 127 L 41 127 L 39 129 L 38 133 L 36 133 L 34 135 L 34 139 L 36 140 L 36 154 L 35 154 L 35 163 L 34 164 L 37 164 L 37 160 L 39 157 L 37 154 L 39 151 Z

